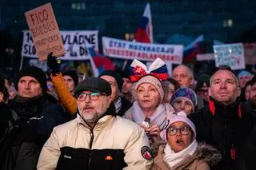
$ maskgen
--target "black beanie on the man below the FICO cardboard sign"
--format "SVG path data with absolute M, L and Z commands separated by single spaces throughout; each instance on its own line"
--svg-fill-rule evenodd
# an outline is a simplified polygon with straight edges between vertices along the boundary
M 16 89 L 18 89 L 19 79 L 25 76 L 34 77 L 38 81 L 38 83 L 41 85 L 41 89 L 43 93 L 46 93 L 48 91 L 46 73 L 44 73 L 42 69 L 39 69 L 38 67 L 34 67 L 34 66 L 26 67 L 25 69 L 22 69 L 18 72 L 16 84 L 15 84 Z

